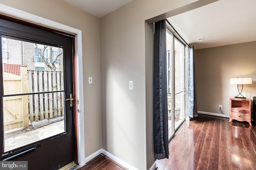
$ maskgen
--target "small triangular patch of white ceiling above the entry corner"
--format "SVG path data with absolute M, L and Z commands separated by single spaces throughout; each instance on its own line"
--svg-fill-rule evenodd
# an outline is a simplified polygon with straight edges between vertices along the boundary
M 102 18 L 133 0 L 62 0 L 97 18 Z

